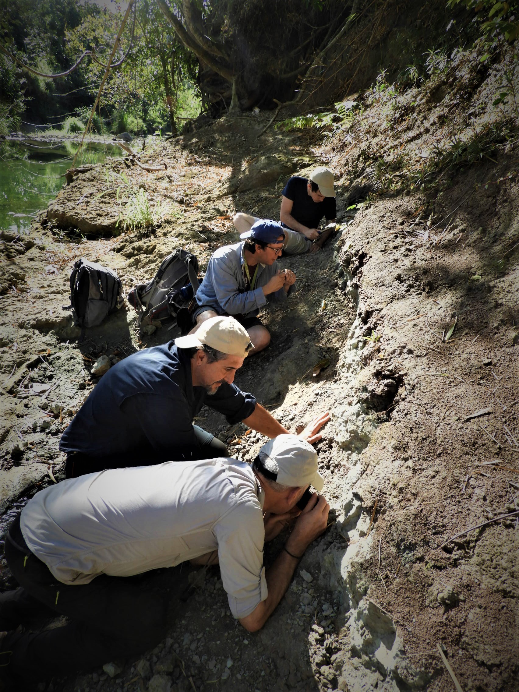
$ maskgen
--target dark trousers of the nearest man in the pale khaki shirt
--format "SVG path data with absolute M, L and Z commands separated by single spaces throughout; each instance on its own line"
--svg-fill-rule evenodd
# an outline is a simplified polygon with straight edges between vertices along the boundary
M 30 552 L 11 525 L 4 547 L 20 588 L 0 594 L 2 671 L 13 681 L 38 682 L 137 655 L 165 638 L 165 599 L 150 592 L 152 572 L 139 577 L 101 575 L 89 584 L 66 585 Z M 36 614 L 66 615 L 69 623 L 39 634 L 14 628 Z M 21 688 L 19 688 L 21 689 Z

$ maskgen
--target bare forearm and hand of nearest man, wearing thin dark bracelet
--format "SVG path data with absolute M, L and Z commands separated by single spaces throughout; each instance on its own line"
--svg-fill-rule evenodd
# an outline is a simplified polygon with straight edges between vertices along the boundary
M 295 522 L 295 528 L 289 540 L 286 541 L 286 550 L 292 555 L 302 556 L 312 540 L 326 529 L 330 507 L 322 495 L 316 495 L 316 498 L 317 501 L 314 504 L 311 504 L 312 498 L 310 499 L 307 507 L 304 508 Z M 298 563 L 299 560 L 293 558 L 285 550 L 280 552 L 275 563 L 265 574 L 268 588 L 266 600 L 258 603 L 251 614 L 240 619 L 240 623 L 246 630 L 257 632 L 264 626 L 284 596 L 284 592 L 289 588 L 289 583 Z

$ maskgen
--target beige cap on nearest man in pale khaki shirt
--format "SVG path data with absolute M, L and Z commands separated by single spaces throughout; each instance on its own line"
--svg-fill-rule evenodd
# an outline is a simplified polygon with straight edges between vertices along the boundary
M 313 485 L 321 491 L 325 479 L 317 468 L 317 452 L 297 435 L 269 439 L 255 459 L 255 468 L 266 478 L 293 488 Z

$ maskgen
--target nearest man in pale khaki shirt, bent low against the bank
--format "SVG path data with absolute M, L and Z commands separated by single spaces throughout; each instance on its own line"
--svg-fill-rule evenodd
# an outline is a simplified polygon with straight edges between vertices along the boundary
M 138 655 L 165 638 L 163 597 L 149 575 L 187 560 L 219 562 L 233 616 L 259 630 L 280 602 L 309 543 L 324 531 L 329 504 L 313 447 L 278 435 L 253 466 L 221 457 L 113 468 L 65 480 L 26 504 L 6 536 L 20 588 L 0 594 L 0 682 L 37 682 Z M 268 571 L 263 546 L 296 518 Z M 172 574 L 174 579 L 174 574 Z M 174 588 L 174 583 L 172 583 Z M 37 613 L 64 626 L 17 629 Z M 231 623 L 229 623 L 231 626 Z

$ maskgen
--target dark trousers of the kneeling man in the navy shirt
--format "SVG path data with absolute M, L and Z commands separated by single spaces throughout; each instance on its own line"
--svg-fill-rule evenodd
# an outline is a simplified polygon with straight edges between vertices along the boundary
M 176 448 L 171 450 L 171 455 L 153 459 L 153 452 L 148 456 L 143 453 L 125 453 L 122 455 L 109 455 L 107 457 L 90 457 L 80 452 L 71 452 L 66 457 L 65 477 L 77 478 L 85 473 L 104 471 L 105 468 L 127 468 L 128 466 L 152 466 L 162 464 L 165 461 L 185 461 L 185 459 L 215 459 L 216 457 L 228 457 L 228 449 L 217 437 L 207 430 L 193 426 L 194 435 L 199 447 L 196 449 Z

